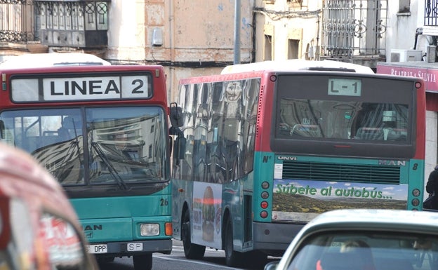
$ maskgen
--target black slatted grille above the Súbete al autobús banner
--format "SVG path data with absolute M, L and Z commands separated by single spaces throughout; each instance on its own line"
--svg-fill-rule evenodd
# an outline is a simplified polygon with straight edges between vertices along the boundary
M 399 184 L 399 166 L 283 162 L 283 179 Z

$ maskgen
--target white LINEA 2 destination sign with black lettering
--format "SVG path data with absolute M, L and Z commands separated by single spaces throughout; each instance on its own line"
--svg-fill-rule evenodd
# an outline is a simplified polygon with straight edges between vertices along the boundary
M 15 102 L 121 100 L 150 98 L 150 76 L 80 76 L 69 78 L 12 79 Z M 42 94 L 42 98 L 41 98 Z

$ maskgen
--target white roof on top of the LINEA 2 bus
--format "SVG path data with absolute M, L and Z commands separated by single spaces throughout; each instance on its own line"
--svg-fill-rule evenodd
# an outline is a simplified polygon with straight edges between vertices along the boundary
M 111 63 L 88 53 L 29 53 L 8 58 L 0 63 L 0 69 L 89 65 Z

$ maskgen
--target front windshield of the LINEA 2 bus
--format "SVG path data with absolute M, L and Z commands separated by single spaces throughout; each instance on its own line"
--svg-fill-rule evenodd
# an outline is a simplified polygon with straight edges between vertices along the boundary
M 31 153 L 65 186 L 165 181 L 159 107 L 26 109 L 4 111 L 0 120 L 4 140 Z

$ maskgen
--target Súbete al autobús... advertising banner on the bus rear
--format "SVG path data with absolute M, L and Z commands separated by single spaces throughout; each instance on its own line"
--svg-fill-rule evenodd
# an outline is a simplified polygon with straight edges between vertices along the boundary
M 308 222 L 341 208 L 406 209 L 407 184 L 274 180 L 272 220 Z

